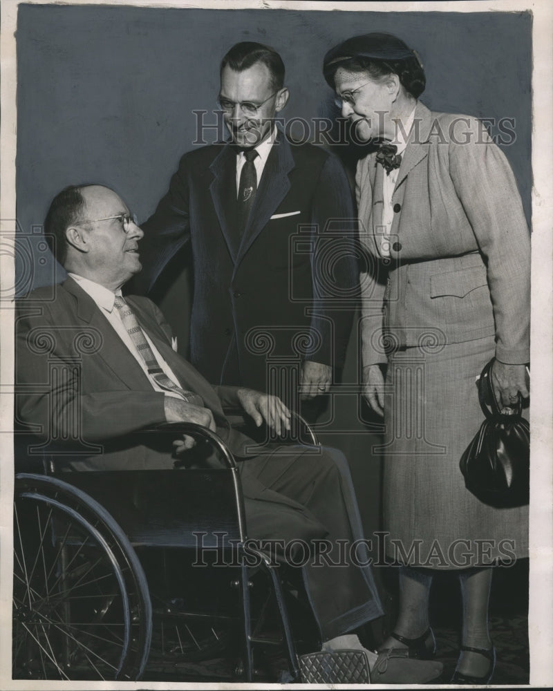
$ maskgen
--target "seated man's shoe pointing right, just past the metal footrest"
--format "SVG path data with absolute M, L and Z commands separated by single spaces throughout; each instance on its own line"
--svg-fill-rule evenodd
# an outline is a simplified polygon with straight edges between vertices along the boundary
M 424 684 L 442 674 L 441 662 L 413 660 L 407 648 L 380 650 L 371 670 L 371 684 Z

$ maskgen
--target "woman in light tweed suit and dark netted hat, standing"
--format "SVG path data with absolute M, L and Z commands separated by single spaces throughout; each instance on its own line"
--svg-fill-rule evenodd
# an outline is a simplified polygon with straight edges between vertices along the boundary
M 356 177 L 368 257 L 364 394 L 384 413 L 386 552 L 402 565 L 400 616 L 383 647 L 435 652 L 433 569 L 458 569 L 464 619 L 451 681 L 486 683 L 495 663 L 491 566 L 527 556 L 527 507 L 480 502 L 459 460 L 482 422 L 475 379 L 489 360 L 503 406 L 529 396 L 530 252 L 520 196 L 478 120 L 418 101 L 424 71 L 400 39 L 348 39 L 327 53 L 324 72 L 356 138 L 394 145 L 360 160 Z

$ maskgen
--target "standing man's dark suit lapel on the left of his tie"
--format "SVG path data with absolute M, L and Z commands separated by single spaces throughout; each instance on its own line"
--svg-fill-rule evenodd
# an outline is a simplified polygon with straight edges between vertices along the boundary
M 233 209 L 236 205 L 236 153 L 229 144 L 223 146 L 221 152 L 209 166 L 214 179 L 209 185 L 213 206 L 223 237 L 229 248 L 232 260 L 236 263 L 236 229 L 234 228 Z

